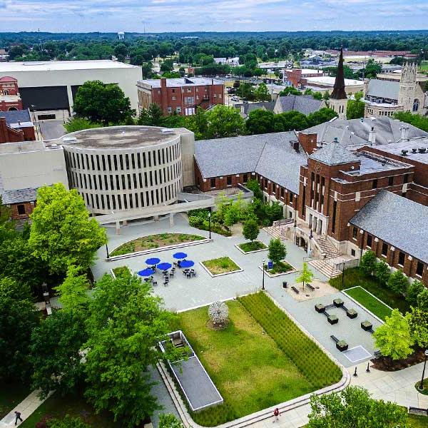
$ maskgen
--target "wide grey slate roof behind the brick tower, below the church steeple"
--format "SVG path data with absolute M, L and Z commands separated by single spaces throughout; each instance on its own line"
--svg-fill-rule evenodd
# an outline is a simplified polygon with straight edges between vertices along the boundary
M 343 146 L 367 145 L 372 127 L 376 132 L 374 146 L 396 143 L 401 139 L 400 128 L 409 128 L 409 138 L 428 136 L 422 129 L 392 118 L 339 119 L 307 128 L 303 133 L 317 133 L 317 141 L 330 143 L 335 137 Z

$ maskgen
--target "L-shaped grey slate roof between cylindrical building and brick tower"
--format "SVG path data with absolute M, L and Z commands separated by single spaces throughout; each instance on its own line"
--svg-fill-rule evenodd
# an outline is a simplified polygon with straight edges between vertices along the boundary
M 255 172 L 298 194 L 307 156 L 290 141 L 297 141 L 294 132 L 195 141 L 195 160 L 204 178 Z

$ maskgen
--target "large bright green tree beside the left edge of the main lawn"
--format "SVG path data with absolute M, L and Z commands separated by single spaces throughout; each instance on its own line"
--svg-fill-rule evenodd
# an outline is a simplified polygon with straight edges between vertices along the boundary
M 109 410 L 128 427 L 158 409 L 148 365 L 170 331 L 171 314 L 140 278 L 104 275 L 97 282 L 87 320 L 85 395 L 98 412 Z M 126 422 L 125 422 L 126 421 Z

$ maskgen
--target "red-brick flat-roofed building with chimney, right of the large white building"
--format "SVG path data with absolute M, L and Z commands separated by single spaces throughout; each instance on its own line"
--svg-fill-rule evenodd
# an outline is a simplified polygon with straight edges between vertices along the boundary
M 148 108 L 152 103 L 162 108 L 163 114 L 195 114 L 196 107 L 210 108 L 224 104 L 223 81 L 212 78 L 161 78 L 138 81 L 138 106 Z

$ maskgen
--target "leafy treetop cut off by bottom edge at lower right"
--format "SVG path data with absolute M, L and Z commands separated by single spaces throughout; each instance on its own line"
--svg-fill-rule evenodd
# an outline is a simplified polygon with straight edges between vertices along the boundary
M 347 387 L 341 392 L 310 397 L 308 428 L 406 428 L 407 409 L 372 399 L 367 389 Z

